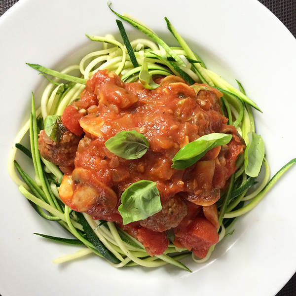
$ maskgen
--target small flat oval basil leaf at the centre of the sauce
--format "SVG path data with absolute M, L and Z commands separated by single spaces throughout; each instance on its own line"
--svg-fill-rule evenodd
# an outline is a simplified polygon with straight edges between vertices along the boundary
M 105 146 L 119 157 L 136 159 L 147 152 L 149 142 L 144 135 L 136 131 L 121 131 L 107 140 Z

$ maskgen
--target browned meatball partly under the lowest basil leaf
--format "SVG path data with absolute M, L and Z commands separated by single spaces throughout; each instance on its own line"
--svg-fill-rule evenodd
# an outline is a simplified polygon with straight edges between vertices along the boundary
M 162 210 L 140 221 L 141 226 L 153 231 L 162 232 L 177 227 L 187 214 L 186 203 L 179 195 L 175 195 L 161 204 Z

